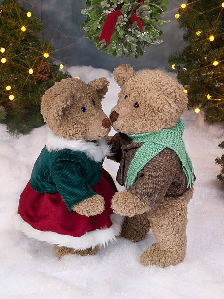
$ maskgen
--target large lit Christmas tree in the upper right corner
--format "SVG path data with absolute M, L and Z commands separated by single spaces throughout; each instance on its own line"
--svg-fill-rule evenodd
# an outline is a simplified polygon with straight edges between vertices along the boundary
M 183 3 L 175 17 L 186 28 L 183 39 L 188 45 L 169 57 L 188 93 L 188 107 L 203 110 L 208 123 L 224 120 L 223 7 L 220 0 Z

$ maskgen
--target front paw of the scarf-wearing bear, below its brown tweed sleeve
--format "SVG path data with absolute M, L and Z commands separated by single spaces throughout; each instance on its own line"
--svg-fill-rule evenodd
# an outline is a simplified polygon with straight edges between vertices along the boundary
M 150 210 L 149 205 L 127 190 L 114 194 L 111 208 L 116 214 L 129 217 L 143 214 Z

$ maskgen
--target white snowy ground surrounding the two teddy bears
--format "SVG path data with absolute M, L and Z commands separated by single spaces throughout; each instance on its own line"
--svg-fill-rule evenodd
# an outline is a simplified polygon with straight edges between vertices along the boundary
M 109 92 L 102 102 L 108 114 L 119 87 L 113 75 L 92 67 L 71 67 L 86 82 L 105 76 Z M 222 125 L 208 126 L 201 113 L 185 112 L 184 140 L 193 161 L 196 183 L 189 203 L 188 247 L 183 264 L 165 269 L 143 267 L 140 254 L 154 238 L 132 243 L 119 237 L 96 256 L 64 256 L 53 246 L 28 239 L 13 228 L 20 193 L 45 144 L 46 127 L 13 138 L 0 125 L 0 298 L 34 299 L 223 299 L 224 298 L 224 190 L 216 180 L 214 164 L 222 151 Z M 118 165 L 105 161 L 115 178 Z M 121 190 L 122 188 L 120 188 Z

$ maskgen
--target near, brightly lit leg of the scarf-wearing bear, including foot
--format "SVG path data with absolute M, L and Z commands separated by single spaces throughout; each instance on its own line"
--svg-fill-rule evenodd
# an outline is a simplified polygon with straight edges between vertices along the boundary
M 187 204 L 192 194 L 193 189 L 177 198 L 165 197 L 155 211 L 148 212 L 156 243 L 140 256 L 141 264 L 164 268 L 183 262 L 187 245 Z

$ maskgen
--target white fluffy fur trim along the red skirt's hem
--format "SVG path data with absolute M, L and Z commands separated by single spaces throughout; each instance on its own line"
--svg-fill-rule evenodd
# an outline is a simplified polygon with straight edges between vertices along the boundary
M 39 231 L 34 229 L 30 224 L 25 222 L 19 214 L 15 215 L 15 227 L 22 231 L 25 235 L 38 241 L 56 244 L 58 246 L 66 246 L 74 250 L 85 250 L 94 248 L 95 246 L 105 246 L 108 242 L 114 241 L 116 236 L 120 234 L 124 216 L 118 214 L 110 215 L 112 225 L 109 228 L 98 229 L 87 232 L 81 237 L 73 237 L 71 235 L 61 235 L 51 231 Z

